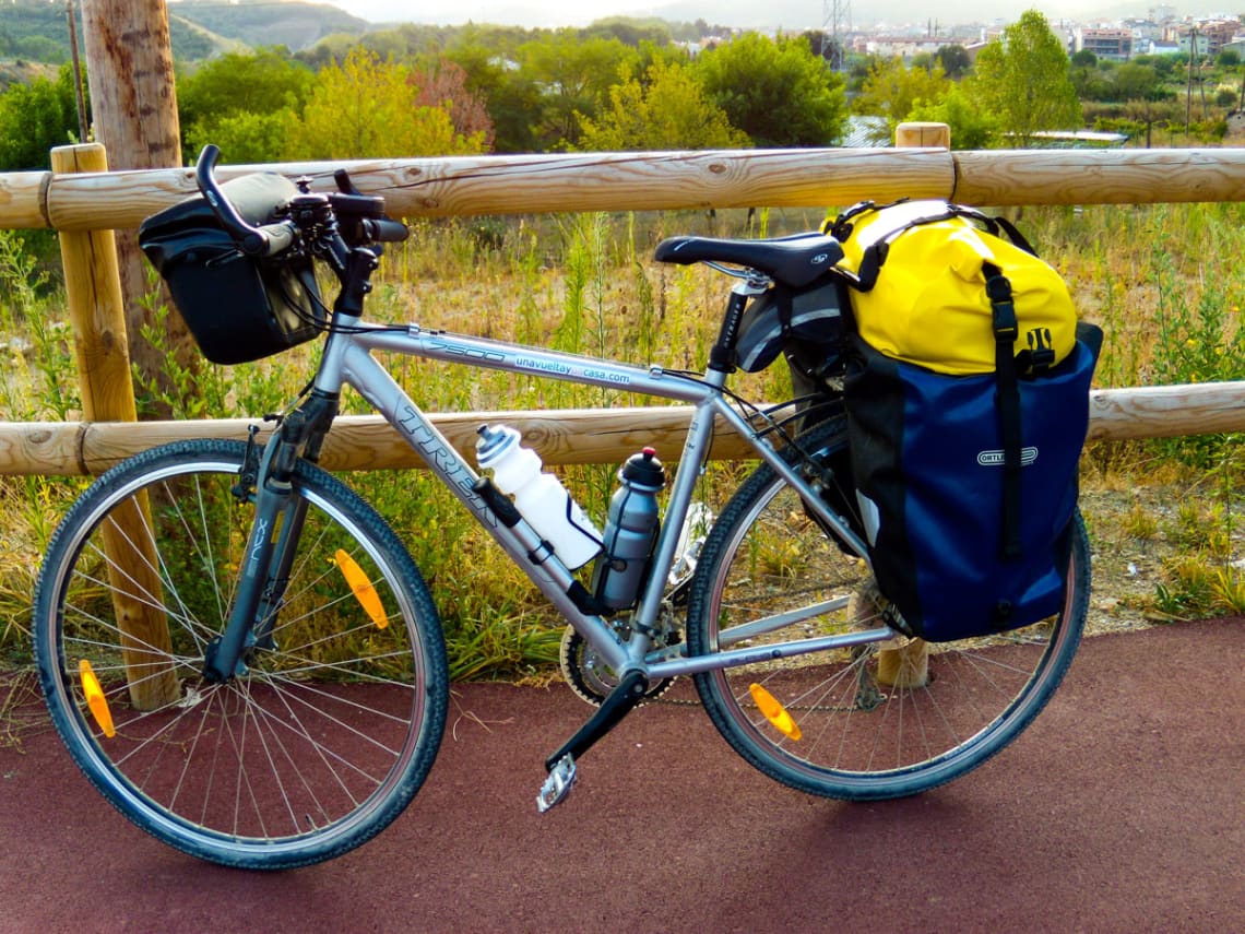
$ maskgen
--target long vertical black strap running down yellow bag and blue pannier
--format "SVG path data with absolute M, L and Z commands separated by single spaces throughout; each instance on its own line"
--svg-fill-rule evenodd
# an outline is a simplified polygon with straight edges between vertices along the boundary
M 1016 339 L 1020 325 L 1012 304 L 1011 283 L 998 267 L 982 264 L 986 274 L 986 295 L 994 313 L 995 380 L 998 385 L 998 428 L 1003 446 L 1002 557 L 1021 557 L 1020 543 L 1020 471 L 1021 423 L 1020 380 L 1016 371 Z

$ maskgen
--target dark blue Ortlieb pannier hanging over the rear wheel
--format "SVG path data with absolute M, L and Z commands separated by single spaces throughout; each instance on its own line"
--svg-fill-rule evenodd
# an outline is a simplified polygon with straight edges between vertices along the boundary
M 1005 415 L 996 374 L 939 374 L 855 339 L 844 382 L 852 472 L 899 628 L 947 641 L 1059 611 L 1101 344 L 1102 331 L 1078 325 L 1064 360 L 1016 380 L 1018 407 Z M 1005 447 L 1017 437 L 1012 468 Z

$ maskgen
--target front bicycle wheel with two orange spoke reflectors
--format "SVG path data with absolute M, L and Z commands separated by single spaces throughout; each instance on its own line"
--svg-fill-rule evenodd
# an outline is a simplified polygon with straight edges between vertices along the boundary
M 202 677 L 254 512 L 232 491 L 245 451 L 178 442 L 95 481 L 49 545 L 34 636 L 52 722 L 117 809 L 200 859 L 280 869 L 340 856 L 402 812 L 439 747 L 448 674 L 402 543 L 301 462 L 308 516 L 275 644 L 224 684 Z

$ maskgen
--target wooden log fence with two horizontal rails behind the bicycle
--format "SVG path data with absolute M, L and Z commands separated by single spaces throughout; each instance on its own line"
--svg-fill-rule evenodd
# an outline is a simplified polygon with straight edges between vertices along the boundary
M 921 144 L 933 133 L 942 146 Z M 1245 149 L 951 152 L 945 128 L 904 127 L 888 149 L 481 156 L 345 163 L 365 192 L 403 217 L 530 212 L 728 207 L 824 207 L 862 199 L 947 198 L 966 204 L 1143 204 L 1245 200 Z M 915 143 L 915 147 L 913 147 Z M 911 148 L 909 148 L 911 147 Z M 265 166 L 310 176 L 331 189 L 342 163 Z M 222 178 L 260 167 L 223 167 Z M 52 172 L 0 173 L 0 227 L 61 233 L 78 342 L 86 421 L 0 422 L 0 473 L 96 473 L 152 445 L 182 437 L 244 437 L 248 420 L 125 423 L 132 402 L 108 397 L 128 381 L 125 325 L 111 230 L 195 192 L 189 169 L 108 172 L 100 147 L 63 147 Z M 111 271 L 108 267 L 112 267 Z M 120 361 L 120 366 L 118 366 Z M 1091 440 L 1245 430 L 1245 382 L 1096 391 Z M 677 447 L 685 407 L 515 412 L 550 463 L 616 462 L 639 443 Z M 452 442 L 468 447 L 484 413 L 437 416 Z M 492 416 L 488 416 L 492 417 Z M 723 435 L 718 457 L 742 453 Z M 325 448 L 331 469 L 417 466 L 375 417 L 341 418 Z

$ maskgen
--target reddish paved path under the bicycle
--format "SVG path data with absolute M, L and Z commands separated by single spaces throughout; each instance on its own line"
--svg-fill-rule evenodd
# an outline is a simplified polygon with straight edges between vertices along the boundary
M 1091 640 L 996 760 L 880 804 L 787 791 L 698 709 L 645 707 L 544 817 L 540 761 L 588 707 L 467 685 L 411 808 L 281 874 L 148 838 L 39 732 L 0 748 L 0 930 L 1243 932 L 1243 665 L 1239 620 Z

